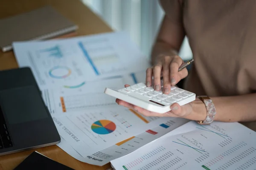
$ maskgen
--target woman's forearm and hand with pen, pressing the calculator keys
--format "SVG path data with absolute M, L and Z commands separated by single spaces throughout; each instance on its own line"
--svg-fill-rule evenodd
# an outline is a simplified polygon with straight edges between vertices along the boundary
M 154 89 L 160 90 L 160 77 L 163 76 L 164 94 L 168 94 L 171 85 L 177 84 L 180 79 L 188 75 L 187 69 L 178 72 L 183 60 L 177 56 L 185 37 L 182 21 L 174 21 L 167 15 L 163 18 L 154 47 L 151 51 L 151 64 L 146 71 L 146 85 L 152 85 L 154 77 Z

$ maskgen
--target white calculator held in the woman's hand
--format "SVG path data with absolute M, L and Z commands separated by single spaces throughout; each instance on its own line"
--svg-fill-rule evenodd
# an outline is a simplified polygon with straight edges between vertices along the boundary
M 186 105 L 195 100 L 194 93 L 181 88 L 172 86 L 169 94 L 163 94 L 163 85 L 160 91 L 155 91 L 153 86 L 147 87 L 142 82 L 119 90 L 106 88 L 104 93 L 157 113 L 170 111 L 173 103 Z

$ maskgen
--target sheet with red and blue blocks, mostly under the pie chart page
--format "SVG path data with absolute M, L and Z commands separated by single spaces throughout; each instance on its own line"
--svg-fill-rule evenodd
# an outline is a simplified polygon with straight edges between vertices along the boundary
M 154 120 L 154 118 L 146 117 L 145 119 L 151 119 L 149 121 Z M 67 152 L 74 158 L 78 159 L 79 161 L 102 166 L 113 159 L 124 156 L 127 153 L 131 153 L 132 151 L 163 136 L 164 134 L 174 130 L 175 128 L 184 125 L 186 122 L 188 122 L 188 120 L 181 118 L 166 118 L 165 121 L 161 122 L 164 123 L 158 122 L 159 124 L 155 127 L 150 127 L 148 128 L 148 130 L 136 136 L 131 136 L 128 139 L 125 139 L 121 142 L 112 144 L 110 147 L 107 147 L 103 150 L 98 150 L 97 152 L 91 155 L 81 156 L 81 154 L 78 151 L 76 151 L 70 145 L 70 143 L 63 138 L 61 138 L 61 143 L 57 145 L 61 147 L 65 152 Z

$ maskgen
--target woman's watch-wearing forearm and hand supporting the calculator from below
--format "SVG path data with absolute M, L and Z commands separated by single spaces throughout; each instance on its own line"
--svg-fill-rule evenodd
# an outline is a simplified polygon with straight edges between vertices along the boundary
M 256 94 L 240 96 L 210 97 L 215 105 L 216 115 L 214 121 L 220 122 L 252 122 L 256 121 Z M 135 106 L 135 109 L 137 106 Z M 172 111 L 165 116 L 183 117 L 190 120 L 203 121 L 207 110 L 200 99 L 180 106 L 177 103 L 171 106 Z M 144 115 L 149 115 L 144 112 Z M 160 116 L 157 113 L 155 116 Z

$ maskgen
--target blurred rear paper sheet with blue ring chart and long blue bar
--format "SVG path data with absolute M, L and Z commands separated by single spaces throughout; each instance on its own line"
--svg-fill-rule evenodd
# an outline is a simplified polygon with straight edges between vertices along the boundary
M 40 88 L 76 88 L 86 81 L 145 71 L 149 61 L 123 32 L 63 40 L 14 42 L 20 67 L 30 67 Z

